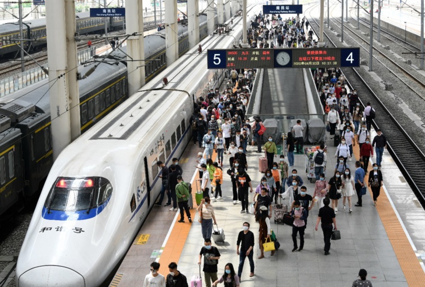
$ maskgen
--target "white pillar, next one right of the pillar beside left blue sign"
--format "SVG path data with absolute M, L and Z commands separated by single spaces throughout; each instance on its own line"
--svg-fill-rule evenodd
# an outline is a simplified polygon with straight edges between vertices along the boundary
M 177 0 L 165 0 L 165 58 L 170 66 L 179 57 Z

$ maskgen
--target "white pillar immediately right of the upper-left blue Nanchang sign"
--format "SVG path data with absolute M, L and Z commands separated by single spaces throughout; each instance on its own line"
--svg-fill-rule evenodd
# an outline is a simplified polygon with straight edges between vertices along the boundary
M 142 5 L 142 1 L 126 0 L 126 33 L 133 34 L 134 32 L 143 31 L 139 30 L 139 5 Z M 143 32 L 142 32 L 143 33 Z M 132 96 L 142 86 L 140 82 L 141 71 L 144 67 L 145 62 L 131 61 L 131 60 L 143 60 L 140 59 L 140 46 L 139 38 L 143 36 L 132 36 L 127 39 L 127 54 L 132 59 L 127 59 L 127 70 L 128 70 L 128 95 Z M 137 68 L 140 67 L 140 68 Z

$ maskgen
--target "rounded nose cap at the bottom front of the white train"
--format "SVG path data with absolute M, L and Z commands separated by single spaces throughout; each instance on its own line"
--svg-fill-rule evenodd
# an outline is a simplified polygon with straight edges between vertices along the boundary
M 85 287 L 84 277 L 62 266 L 40 266 L 19 277 L 19 287 Z

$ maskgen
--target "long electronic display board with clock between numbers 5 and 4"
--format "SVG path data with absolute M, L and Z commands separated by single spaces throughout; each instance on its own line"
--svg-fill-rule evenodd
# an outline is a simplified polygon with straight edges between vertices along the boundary
M 208 50 L 209 69 L 359 67 L 360 48 Z

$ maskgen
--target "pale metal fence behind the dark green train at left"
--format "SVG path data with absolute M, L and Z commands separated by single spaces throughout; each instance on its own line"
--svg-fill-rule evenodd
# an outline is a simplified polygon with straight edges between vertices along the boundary
M 96 55 L 96 48 L 91 47 L 77 53 L 77 62 L 85 62 Z M 48 66 L 45 65 L 47 68 Z M 0 80 L 0 98 L 48 78 L 42 68 L 35 67 L 20 74 Z

